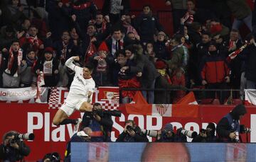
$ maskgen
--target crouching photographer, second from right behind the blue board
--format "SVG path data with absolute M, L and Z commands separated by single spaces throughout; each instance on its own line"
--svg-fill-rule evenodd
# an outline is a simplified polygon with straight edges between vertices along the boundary
M 216 142 L 215 125 L 213 122 L 209 122 L 206 129 L 201 129 L 200 133 L 193 138 L 192 142 Z

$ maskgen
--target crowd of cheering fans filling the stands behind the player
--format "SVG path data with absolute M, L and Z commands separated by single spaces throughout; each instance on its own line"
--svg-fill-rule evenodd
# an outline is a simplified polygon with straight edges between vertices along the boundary
M 118 3 L 105 1 L 98 11 L 89 0 L 49 0 L 46 7 L 1 1 L 0 87 L 34 87 L 41 73 L 45 86 L 69 87 L 74 73 L 65 61 L 79 56 L 79 66 L 93 64 L 96 86 L 181 89 L 167 98 L 142 91 L 148 103 L 176 103 L 185 87 L 255 88 L 255 15 L 246 1 L 167 0 L 174 35 L 166 35 L 151 5 L 134 16 L 129 0 Z M 28 12 L 23 4 L 34 7 Z M 252 32 L 245 39 L 242 23 Z M 133 97 L 124 91 L 122 102 Z

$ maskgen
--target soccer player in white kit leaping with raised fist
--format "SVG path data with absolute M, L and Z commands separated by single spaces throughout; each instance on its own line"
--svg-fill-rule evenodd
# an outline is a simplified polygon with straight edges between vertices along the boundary
M 92 79 L 92 66 L 85 65 L 83 68 L 73 64 L 73 61 L 79 61 L 79 57 L 70 57 L 65 62 L 65 66 L 75 71 L 74 80 L 71 83 L 70 91 L 65 103 L 56 112 L 53 118 L 53 125 L 75 125 L 74 131 L 78 131 L 81 118 L 72 120 L 68 117 L 73 114 L 75 110 L 80 112 L 91 112 L 93 105 L 90 104 L 92 100 L 93 89 L 95 88 L 95 81 Z

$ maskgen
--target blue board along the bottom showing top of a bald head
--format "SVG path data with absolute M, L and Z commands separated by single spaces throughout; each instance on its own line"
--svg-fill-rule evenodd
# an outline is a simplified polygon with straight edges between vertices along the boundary
M 256 161 L 256 144 L 73 143 L 71 161 Z

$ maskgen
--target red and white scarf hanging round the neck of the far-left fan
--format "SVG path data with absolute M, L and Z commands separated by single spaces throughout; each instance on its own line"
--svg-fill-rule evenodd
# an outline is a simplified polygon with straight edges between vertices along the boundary
M 21 60 L 22 60 L 22 53 L 23 51 L 20 49 L 18 49 L 18 66 L 21 66 Z M 12 48 L 10 48 L 9 50 L 9 60 L 8 60 L 8 65 L 7 65 L 7 69 L 6 69 L 6 73 L 7 74 L 11 74 L 11 67 L 14 65 L 14 52 L 12 50 Z M 17 69 L 18 70 L 18 69 Z M 15 76 L 18 76 L 17 71 L 14 74 Z

